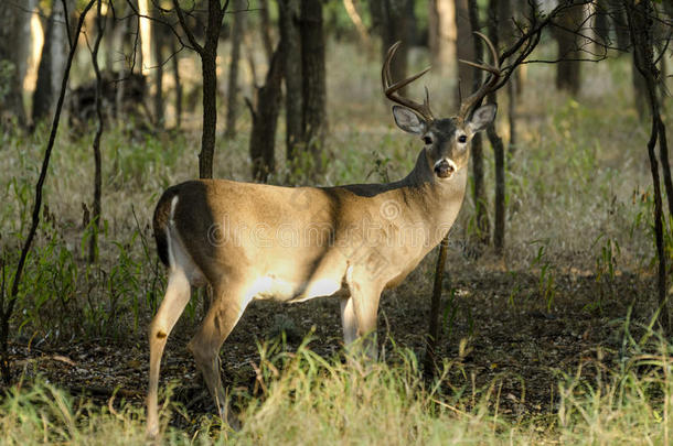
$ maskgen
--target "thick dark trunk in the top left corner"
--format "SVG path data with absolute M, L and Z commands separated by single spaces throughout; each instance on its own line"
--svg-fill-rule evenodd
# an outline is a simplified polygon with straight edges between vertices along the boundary
M 19 8 L 18 3 L 0 2 L 0 118 L 17 119 L 25 127 L 23 106 L 23 78 L 30 51 L 30 19 L 35 0 Z M 28 11 L 24 11 L 23 9 Z

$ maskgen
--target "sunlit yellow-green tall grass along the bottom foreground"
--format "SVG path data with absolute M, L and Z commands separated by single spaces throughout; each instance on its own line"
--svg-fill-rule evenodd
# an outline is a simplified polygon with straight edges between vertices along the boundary
M 648 333 L 634 340 L 627 327 L 624 356 L 613 369 L 599 355 L 575 371 L 559 371 L 556 409 L 530 417 L 499 413 L 498 382 L 452 388 L 449 373 L 424 381 L 408 350 L 395 349 L 386 361 L 356 356 L 342 361 L 316 355 L 308 340 L 296 351 L 275 342 L 259 348 L 255 390 L 233 398 L 241 431 L 222 428 L 211 416 L 192 418 L 167 400 L 161 443 L 666 445 L 673 428 L 673 346 Z M 584 378 L 587 368 L 598 371 L 591 380 Z M 0 442 L 145 444 L 143 418 L 142 409 L 128 402 L 99 406 L 44 382 L 18 385 L 0 406 Z M 191 427 L 180 429 L 177 422 Z

